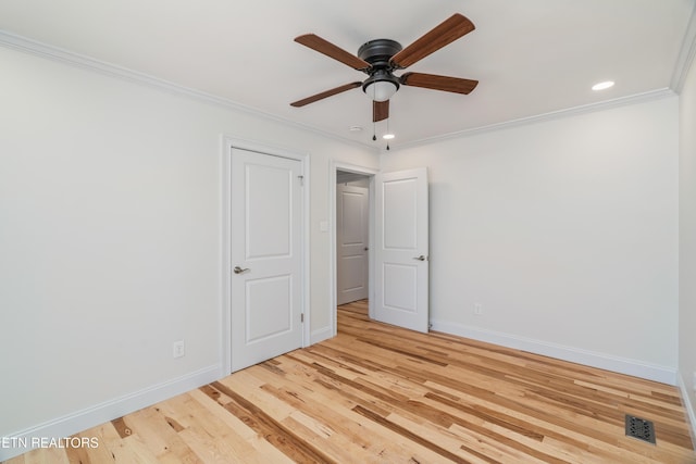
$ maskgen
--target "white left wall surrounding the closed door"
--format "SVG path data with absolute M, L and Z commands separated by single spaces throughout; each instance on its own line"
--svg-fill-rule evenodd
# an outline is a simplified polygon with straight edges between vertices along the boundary
M 219 373 L 222 134 L 310 153 L 311 328 L 331 333 L 330 160 L 376 153 L 10 49 L 0 68 L 0 437 Z

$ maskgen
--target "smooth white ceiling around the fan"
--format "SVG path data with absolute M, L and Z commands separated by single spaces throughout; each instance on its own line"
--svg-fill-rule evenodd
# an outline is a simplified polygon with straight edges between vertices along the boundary
M 476 29 L 408 71 L 480 80 L 469 96 L 401 87 L 393 147 L 674 88 L 696 0 L 2 0 L 0 29 L 196 89 L 343 139 L 373 142 L 360 88 L 290 102 L 366 76 L 293 39 L 357 53 L 403 47 L 459 12 Z M 7 34 L 0 41 L 8 42 Z M 4 38 L 3 38 L 4 37 Z M 597 81 L 617 85 L 602 92 Z M 363 127 L 362 133 L 350 131 Z M 376 126 L 377 135 L 386 122 Z

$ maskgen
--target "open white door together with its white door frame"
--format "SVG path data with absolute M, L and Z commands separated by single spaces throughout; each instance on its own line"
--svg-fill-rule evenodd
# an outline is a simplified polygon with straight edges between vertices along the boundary
M 331 170 L 330 230 L 334 234 L 331 237 L 330 280 L 332 335 L 337 334 L 336 179 L 339 172 L 362 174 L 370 181 L 370 318 L 426 333 L 430 324 L 427 168 L 382 174 L 378 171 L 332 162 Z

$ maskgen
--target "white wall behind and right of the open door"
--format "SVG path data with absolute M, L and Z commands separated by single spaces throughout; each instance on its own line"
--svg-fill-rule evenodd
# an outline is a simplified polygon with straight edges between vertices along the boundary
M 383 153 L 430 170 L 433 327 L 674 384 L 678 138 L 667 97 Z

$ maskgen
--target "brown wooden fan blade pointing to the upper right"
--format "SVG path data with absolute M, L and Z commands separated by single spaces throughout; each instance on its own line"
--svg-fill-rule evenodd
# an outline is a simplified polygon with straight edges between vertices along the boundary
M 430 33 L 391 57 L 394 67 L 405 68 L 471 33 L 475 26 L 467 16 L 455 13 Z

